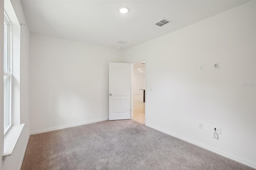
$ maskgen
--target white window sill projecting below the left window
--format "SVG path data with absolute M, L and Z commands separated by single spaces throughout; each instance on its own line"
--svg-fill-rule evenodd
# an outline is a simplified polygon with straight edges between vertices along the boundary
M 6 156 L 11 156 L 12 152 L 18 142 L 22 129 L 25 123 L 20 125 L 12 125 L 12 127 L 8 130 L 8 132 L 4 135 L 4 154 L 3 160 Z

